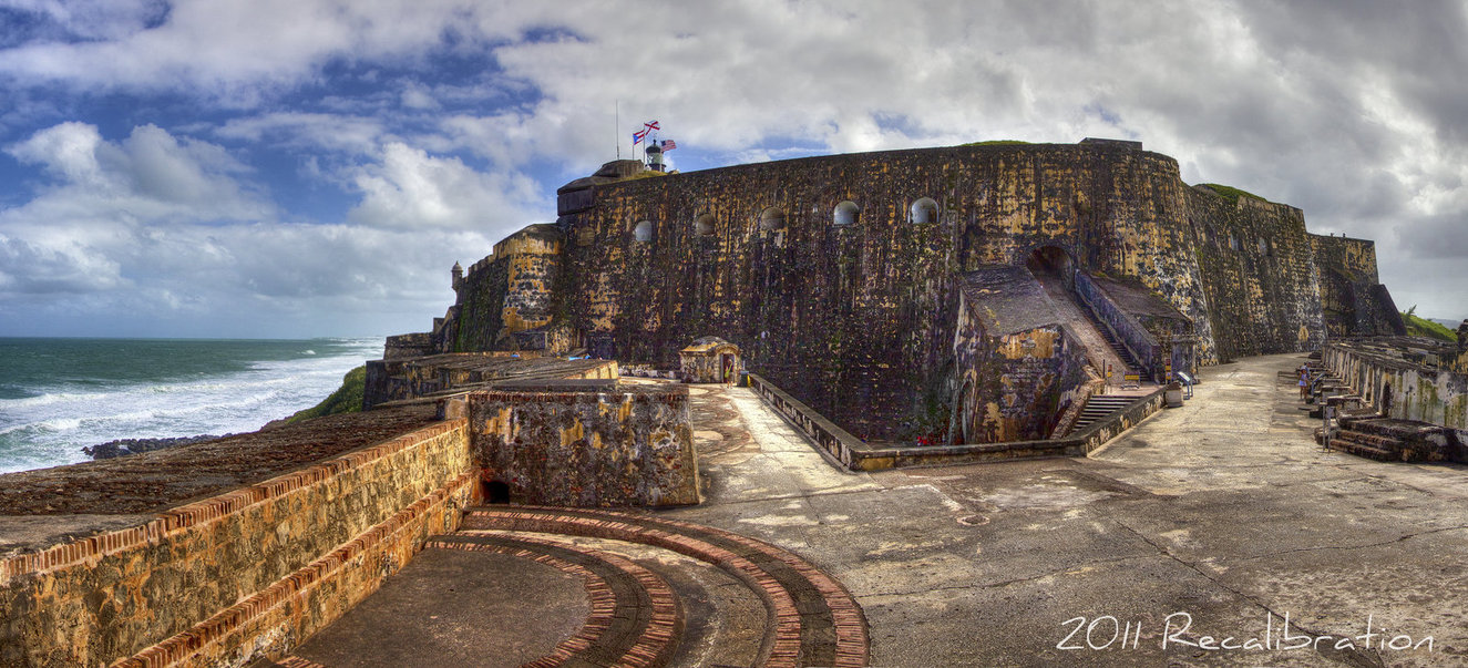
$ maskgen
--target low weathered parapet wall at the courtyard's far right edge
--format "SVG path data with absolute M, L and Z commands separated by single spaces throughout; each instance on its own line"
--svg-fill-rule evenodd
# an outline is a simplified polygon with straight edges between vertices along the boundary
M 1323 351 L 1323 363 L 1362 399 L 1378 410 L 1386 407 L 1387 417 L 1468 432 L 1468 374 L 1455 371 L 1447 355 L 1434 355 L 1436 363 L 1425 364 L 1415 361 L 1417 354 L 1408 354 L 1412 360 L 1386 346 L 1331 342 Z

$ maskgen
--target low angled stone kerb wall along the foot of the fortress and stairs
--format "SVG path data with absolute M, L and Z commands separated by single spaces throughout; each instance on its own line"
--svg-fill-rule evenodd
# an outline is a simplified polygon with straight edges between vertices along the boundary
M 765 404 L 769 404 L 785 420 L 800 429 L 802 433 L 809 436 L 821 454 L 851 471 L 954 465 L 1038 457 L 1085 457 L 1107 440 L 1114 439 L 1122 432 L 1135 427 L 1142 420 L 1163 410 L 1163 391 L 1157 391 L 1147 396 L 1139 396 L 1122 411 L 1063 439 L 891 448 L 862 442 L 862 439 L 851 436 L 759 374 L 749 374 L 749 386 L 759 393 Z

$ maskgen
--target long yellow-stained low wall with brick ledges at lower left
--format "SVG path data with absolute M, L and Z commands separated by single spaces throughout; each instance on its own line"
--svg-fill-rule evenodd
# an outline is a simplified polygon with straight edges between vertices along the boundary
M 0 665 L 279 656 L 451 531 L 479 486 L 462 420 L 0 561 Z M 119 661 L 120 659 L 120 661 Z

